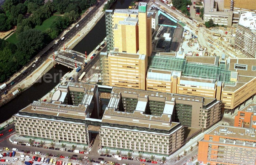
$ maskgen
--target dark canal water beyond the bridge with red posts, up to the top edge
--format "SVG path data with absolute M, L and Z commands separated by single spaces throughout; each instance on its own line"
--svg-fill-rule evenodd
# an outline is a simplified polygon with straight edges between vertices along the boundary
M 129 8 L 132 0 L 117 0 L 111 9 L 126 9 Z M 103 16 L 94 28 L 72 49 L 84 53 L 91 52 L 100 42 L 106 37 L 105 16 Z

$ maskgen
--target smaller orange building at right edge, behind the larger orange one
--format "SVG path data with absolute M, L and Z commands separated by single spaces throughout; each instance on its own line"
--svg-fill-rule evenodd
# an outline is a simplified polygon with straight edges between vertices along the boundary
M 250 103 L 235 116 L 235 127 L 256 128 L 256 103 Z

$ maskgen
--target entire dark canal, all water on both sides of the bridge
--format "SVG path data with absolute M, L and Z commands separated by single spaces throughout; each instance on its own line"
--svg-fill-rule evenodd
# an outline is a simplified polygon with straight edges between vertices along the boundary
M 117 0 L 111 9 L 125 9 L 128 8 L 132 0 Z M 103 16 L 94 28 L 73 48 L 73 50 L 84 53 L 85 51 L 91 52 L 94 48 L 103 41 L 106 37 L 105 17 Z M 71 71 L 70 68 L 63 65 L 56 65 L 51 68 L 47 74 L 57 74 L 62 71 L 62 76 Z M 16 114 L 19 110 L 31 104 L 33 100 L 38 100 L 52 90 L 60 81 L 58 75 L 56 80 L 52 82 L 37 82 L 26 91 L 22 92 L 16 98 L 0 107 L 0 123 L 8 120 L 12 115 Z

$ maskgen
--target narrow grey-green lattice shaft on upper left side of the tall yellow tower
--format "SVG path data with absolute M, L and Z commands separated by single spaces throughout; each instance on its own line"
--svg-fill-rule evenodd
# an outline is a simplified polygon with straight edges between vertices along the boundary
M 105 11 L 106 18 L 106 47 L 107 51 L 113 50 L 114 48 L 114 36 L 113 36 L 113 20 L 112 20 L 113 10 Z

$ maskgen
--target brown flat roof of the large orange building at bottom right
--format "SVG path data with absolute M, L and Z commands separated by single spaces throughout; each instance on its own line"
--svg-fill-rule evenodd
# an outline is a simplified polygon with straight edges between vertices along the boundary
M 246 139 L 256 142 L 255 129 L 233 127 L 233 126 L 216 126 L 209 135 L 217 135 L 230 139 Z

